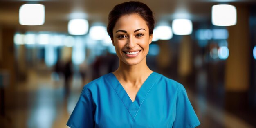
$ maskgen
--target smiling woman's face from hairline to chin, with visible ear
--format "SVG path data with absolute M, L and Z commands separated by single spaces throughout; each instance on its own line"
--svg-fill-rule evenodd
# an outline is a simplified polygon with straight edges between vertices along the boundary
M 137 14 L 130 14 L 117 20 L 113 28 L 112 43 L 123 63 L 136 65 L 146 61 L 152 38 L 153 34 L 149 35 L 149 28 L 144 19 Z

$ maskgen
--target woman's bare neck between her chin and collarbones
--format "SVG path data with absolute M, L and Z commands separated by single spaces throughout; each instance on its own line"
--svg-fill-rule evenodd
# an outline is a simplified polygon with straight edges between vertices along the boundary
M 146 58 L 137 65 L 126 65 L 119 60 L 118 69 L 113 72 L 117 79 L 129 85 L 141 85 L 153 71 L 146 64 Z

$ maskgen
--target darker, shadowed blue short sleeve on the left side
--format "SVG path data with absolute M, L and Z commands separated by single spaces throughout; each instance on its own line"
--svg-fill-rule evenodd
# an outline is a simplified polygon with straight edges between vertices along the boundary
M 91 94 L 83 88 L 67 126 L 71 128 L 94 128 L 94 107 Z

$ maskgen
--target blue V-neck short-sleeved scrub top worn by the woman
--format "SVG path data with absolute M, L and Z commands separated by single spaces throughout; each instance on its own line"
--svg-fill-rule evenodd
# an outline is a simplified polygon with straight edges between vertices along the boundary
M 180 83 L 153 72 L 132 102 L 113 73 L 84 86 L 71 128 L 195 128 L 198 117 Z

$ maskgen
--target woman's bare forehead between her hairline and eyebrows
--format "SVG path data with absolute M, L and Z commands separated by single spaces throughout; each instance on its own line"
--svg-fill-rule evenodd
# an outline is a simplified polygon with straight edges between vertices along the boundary
M 121 16 L 117 20 L 113 31 L 114 33 L 116 30 L 134 31 L 140 28 L 146 29 L 146 31 L 148 31 L 146 21 L 138 14 L 130 14 Z

